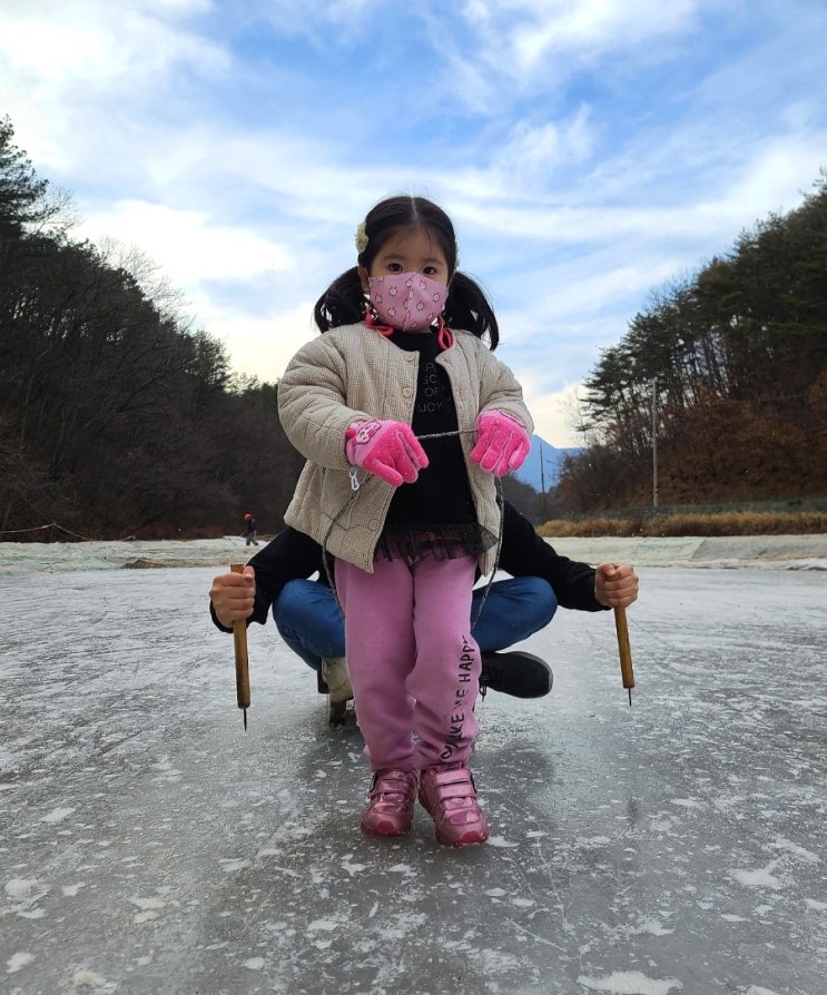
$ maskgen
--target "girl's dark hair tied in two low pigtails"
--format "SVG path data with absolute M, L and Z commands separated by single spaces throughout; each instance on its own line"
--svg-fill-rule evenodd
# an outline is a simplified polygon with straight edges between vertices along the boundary
M 403 228 L 425 228 L 435 238 L 447 263 L 450 284 L 445 302 L 449 328 L 471 332 L 478 338 L 488 336 L 491 349 L 500 342 L 500 327 L 485 292 L 470 276 L 456 268 L 456 235 L 445 211 L 424 197 L 387 197 L 372 207 L 365 218 L 365 248 L 356 256 L 360 266 L 370 272 L 383 245 Z M 313 308 L 322 332 L 338 325 L 355 325 L 365 317 L 365 295 L 358 267 L 347 269 L 334 279 Z

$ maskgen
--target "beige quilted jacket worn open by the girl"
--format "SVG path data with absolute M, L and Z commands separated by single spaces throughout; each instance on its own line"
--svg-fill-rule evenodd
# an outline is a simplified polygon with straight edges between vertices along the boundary
M 500 533 L 495 479 L 469 459 L 474 424 L 484 410 L 514 415 L 529 434 L 533 422 L 514 375 L 474 335 L 454 332 L 436 362 L 447 371 L 456 404 L 465 466 L 480 523 Z M 333 556 L 368 573 L 394 489 L 358 470 L 354 491 L 345 456 L 345 431 L 365 418 L 411 424 L 420 356 L 360 323 L 325 332 L 291 359 L 278 384 L 278 413 L 293 445 L 307 459 L 285 521 Z M 404 486 L 404 485 L 403 485 Z M 494 568 L 496 550 L 480 558 Z

